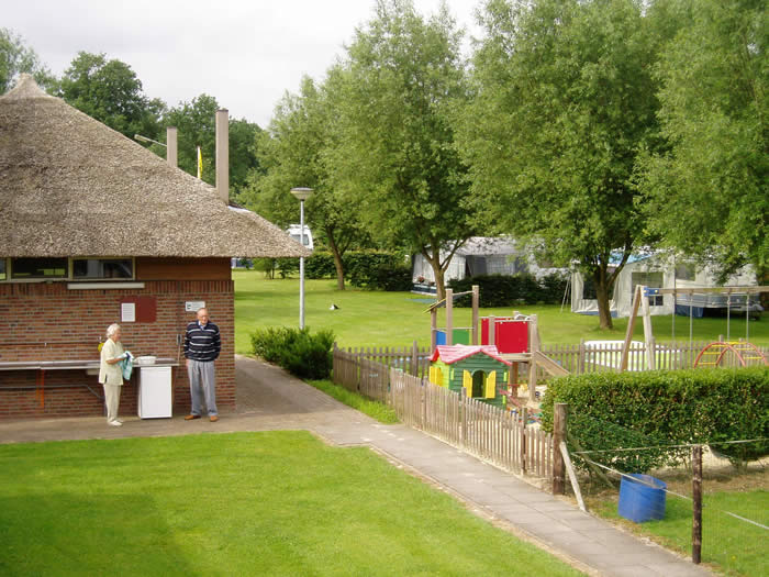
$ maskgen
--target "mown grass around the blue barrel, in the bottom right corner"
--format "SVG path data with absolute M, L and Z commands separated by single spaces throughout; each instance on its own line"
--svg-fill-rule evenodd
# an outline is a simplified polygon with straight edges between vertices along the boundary
M 673 495 L 666 500 L 665 519 L 633 523 L 617 514 L 616 498 L 594 501 L 593 512 L 659 544 L 691 555 L 692 502 Z M 769 525 L 769 491 L 718 491 L 703 496 L 702 563 L 726 575 L 767 575 L 767 530 L 725 511 Z

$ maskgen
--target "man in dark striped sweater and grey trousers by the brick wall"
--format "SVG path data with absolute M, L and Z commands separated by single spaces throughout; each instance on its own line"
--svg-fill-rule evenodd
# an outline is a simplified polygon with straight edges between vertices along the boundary
M 219 421 L 213 362 L 219 357 L 221 349 L 219 326 L 209 321 L 208 309 L 198 310 L 198 320 L 187 325 L 185 336 L 185 357 L 192 393 L 192 411 L 185 417 L 186 421 L 200 419 L 203 397 L 209 410 L 209 420 L 212 423 Z

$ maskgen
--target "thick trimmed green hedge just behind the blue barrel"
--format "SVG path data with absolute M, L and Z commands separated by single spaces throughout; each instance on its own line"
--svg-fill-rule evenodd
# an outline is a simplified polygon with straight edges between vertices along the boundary
M 717 443 L 769 436 L 769 367 L 593 373 L 549 381 L 543 428 L 553 407 L 569 404 L 568 433 L 583 451 Z M 713 447 L 733 463 L 769 454 L 769 442 Z M 570 450 L 577 450 L 573 443 Z M 627 473 L 680 463 L 688 450 L 591 455 Z M 577 458 L 578 464 L 582 463 Z

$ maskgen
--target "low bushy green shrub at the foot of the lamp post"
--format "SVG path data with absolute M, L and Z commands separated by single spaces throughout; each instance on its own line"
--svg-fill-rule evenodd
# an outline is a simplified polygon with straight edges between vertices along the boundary
M 259 329 L 250 335 L 255 355 L 280 365 L 301 378 L 325 379 L 331 375 L 334 333 L 286 326 Z

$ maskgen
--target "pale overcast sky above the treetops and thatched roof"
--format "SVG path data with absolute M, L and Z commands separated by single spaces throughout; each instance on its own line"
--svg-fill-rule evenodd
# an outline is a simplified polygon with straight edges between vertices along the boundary
M 129 64 L 149 98 L 169 106 L 207 93 L 266 127 L 286 90 L 343 53 L 375 0 L 5 0 L 0 26 L 23 36 L 60 76 L 78 51 Z M 423 14 L 439 0 L 415 0 Z M 475 29 L 480 0 L 448 0 Z

